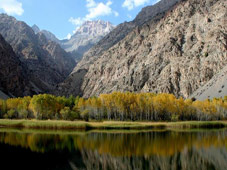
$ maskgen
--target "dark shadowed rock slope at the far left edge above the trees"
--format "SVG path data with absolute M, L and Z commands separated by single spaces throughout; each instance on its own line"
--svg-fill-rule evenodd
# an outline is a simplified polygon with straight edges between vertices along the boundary
M 14 96 L 30 95 L 32 92 L 24 70 L 12 47 L 0 34 L 0 90 Z M 5 98 L 3 95 L 1 92 L 0 98 Z

